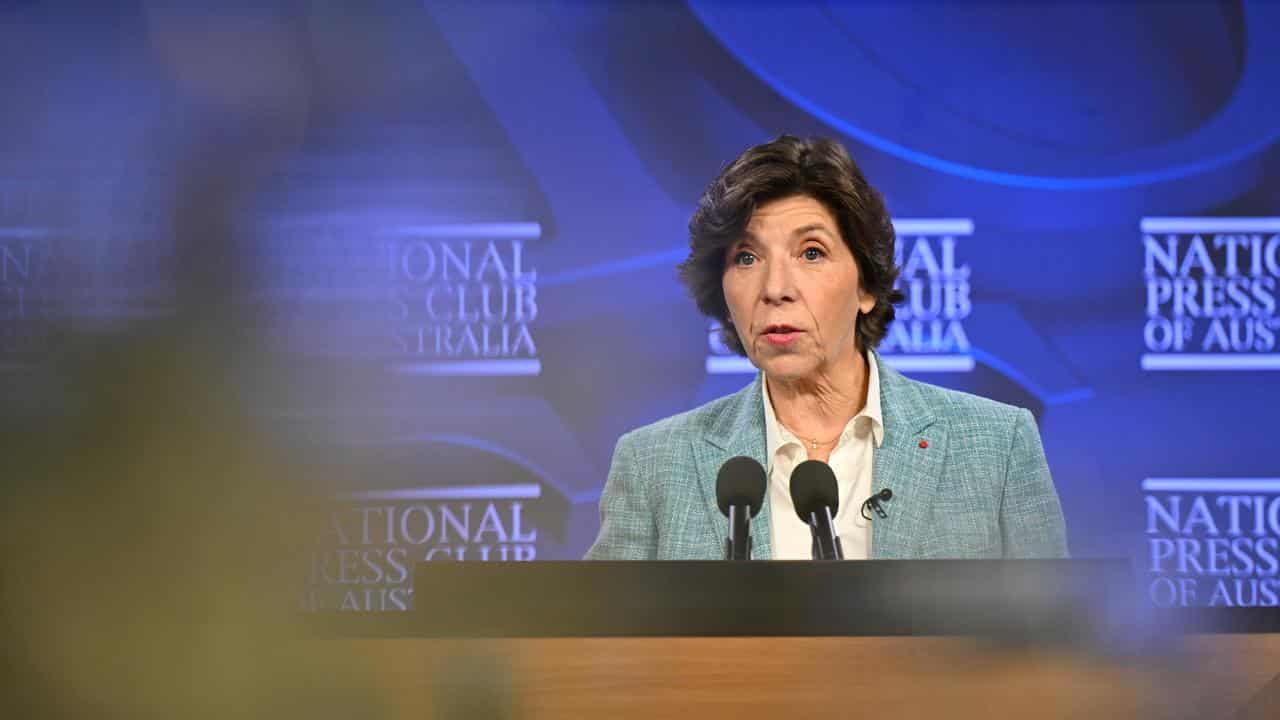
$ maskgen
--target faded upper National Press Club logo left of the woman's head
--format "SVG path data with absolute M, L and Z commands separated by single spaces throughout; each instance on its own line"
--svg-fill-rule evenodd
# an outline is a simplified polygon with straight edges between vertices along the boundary
M 538 223 L 401 228 L 387 245 L 398 331 L 396 369 L 410 374 L 535 375 L 538 270 L 526 241 Z

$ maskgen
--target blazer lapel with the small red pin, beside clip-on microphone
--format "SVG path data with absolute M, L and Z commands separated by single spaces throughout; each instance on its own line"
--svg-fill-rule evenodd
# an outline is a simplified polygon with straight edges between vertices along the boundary
M 879 363 L 881 415 L 884 439 L 872 462 L 872 492 L 890 488 L 887 518 L 872 524 L 872 559 L 914 557 L 929 532 L 928 510 L 942 474 L 947 451 L 947 427 L 938 423 L 913 380 Z M 927 447 L 920 447 L 920 442 Z

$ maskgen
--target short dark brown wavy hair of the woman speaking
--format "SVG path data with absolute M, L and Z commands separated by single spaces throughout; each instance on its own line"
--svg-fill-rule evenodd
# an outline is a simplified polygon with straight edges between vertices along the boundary
M 863 288 L 876 297 L 870 313 L 858 319 L 858 347 L 876 347 L 893 322 L 893 305 L 904 297 L 893 287 L 899 273 L 893 223 L 881 193 L 835 140 L 783 135 L 749 147 L 730 163 L 707 186 L 689 220 L 689 258 L 680 264 L 680 281 L 698 309 L 719 320 L 724 343 L 746 355 L 724 301 L 724 255 L 746 232 L 756 208 L 796 195 L 813 197 L 835 217 Z

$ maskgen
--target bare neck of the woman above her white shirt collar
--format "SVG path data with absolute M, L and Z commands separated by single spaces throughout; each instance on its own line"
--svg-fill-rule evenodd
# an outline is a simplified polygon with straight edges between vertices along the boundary
M 773 415 L 805 442 L 831 442 L 867 405 L 867 382 L 870 373 L 861 351 L 852 352 L 847 363 L 823 368 L 808 378 L 771 378 L 769 401 Z

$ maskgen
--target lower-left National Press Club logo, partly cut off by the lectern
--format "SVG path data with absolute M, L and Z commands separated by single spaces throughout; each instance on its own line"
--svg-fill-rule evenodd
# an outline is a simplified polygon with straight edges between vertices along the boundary
M 422 561 L 529 561 L 536 483 L 372 491 L 342 496 L 324 514 L 311 553 L 305 610 L 403 611 Z

